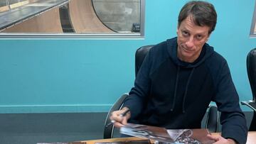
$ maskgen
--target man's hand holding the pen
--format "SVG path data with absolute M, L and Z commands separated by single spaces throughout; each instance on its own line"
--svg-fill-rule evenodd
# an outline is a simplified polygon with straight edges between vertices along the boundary
M 119 111 L 113 111 L 111 113 L 110 120 L 115 121 L 114 122 L 115 127 L 120 128 L 127 124 L 128 119 L 131 117 L 131 113 L 128 112 L 125 116 L 122 116 L 122 113 L 124 113 L 124 111 L 127 111 L 127 109 L 128 109 L 127 107 L 124 107 Z

